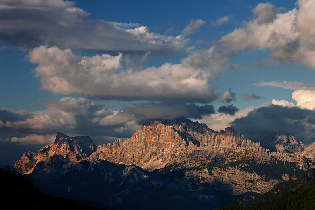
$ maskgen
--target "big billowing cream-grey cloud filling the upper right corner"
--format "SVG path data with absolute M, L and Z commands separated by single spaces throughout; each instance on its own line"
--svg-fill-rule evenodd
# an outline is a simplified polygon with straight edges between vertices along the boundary
M 246 50 L 268 49 L 277 61 L 303 62 L 315 69 L 315 2 L 297 1 L 297 8 L 278 13 L 270 3 L 260 3 L 253 9 L 254 18 L 245 26 L 221 37 L 214 53 L 229 61 Z

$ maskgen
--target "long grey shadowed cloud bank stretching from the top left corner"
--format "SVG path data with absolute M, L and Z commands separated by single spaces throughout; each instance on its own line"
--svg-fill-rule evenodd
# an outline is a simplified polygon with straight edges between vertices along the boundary
M 91 20 L 75 3 L 62 0 L 0 2 L 0 40 L 22 49 L 60 49 L 144 55 L 186 52 L 188 39 L 149 32 L 138 23 Z

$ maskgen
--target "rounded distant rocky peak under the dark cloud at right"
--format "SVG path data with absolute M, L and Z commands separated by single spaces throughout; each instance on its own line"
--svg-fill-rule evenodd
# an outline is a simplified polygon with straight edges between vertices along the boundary
M 269 135 L 261 142 L 261 146 L 266 149 L 270 149 L 272 152 L 281 153 L 299 153 L 306 148 L 304 144 L 298 142 L 294 136 L 285 132 Z

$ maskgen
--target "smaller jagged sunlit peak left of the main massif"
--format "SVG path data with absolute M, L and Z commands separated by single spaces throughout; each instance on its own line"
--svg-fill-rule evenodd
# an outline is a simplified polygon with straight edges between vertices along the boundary
M 29 172 L 38 161 L 46 160 L 49 156 L 62 155 L 70 161 L 78 161 L 88 157 L 95 152 L 96 146 L 89 136 L 69 137 L 58 132 L 54 143 L 38 150 L 37 152 L 26 152 L 22 158 L 15 162 L 13 166 L 20 173 Z

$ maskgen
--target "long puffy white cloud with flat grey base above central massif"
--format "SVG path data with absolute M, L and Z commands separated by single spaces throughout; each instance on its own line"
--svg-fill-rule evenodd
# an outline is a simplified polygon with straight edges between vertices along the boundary
M 217 97 L 208 84 L 211 74 L 190 65 L 187 59 L 179 64 L 124 70 L 122 54 L 86 57 L 47 46 L 31 50 L 29 59 L 38 64 L 35 73 L 41 78 L 42 89 L 53 93 L 119 100 L 171 98 L 187 102 L 209 102 Z

